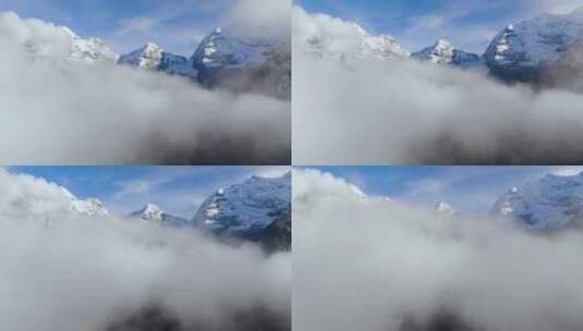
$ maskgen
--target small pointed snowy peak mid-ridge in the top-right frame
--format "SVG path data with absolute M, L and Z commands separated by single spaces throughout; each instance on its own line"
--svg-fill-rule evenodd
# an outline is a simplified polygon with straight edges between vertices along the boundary
M 482 64 L 479 56 L 453 48 L 445 39 L 437 40 L 434 45 L 412 54 L 422 61 L 430 61 L 437 64 L 453 64 L 460 68 L 472 68 Z

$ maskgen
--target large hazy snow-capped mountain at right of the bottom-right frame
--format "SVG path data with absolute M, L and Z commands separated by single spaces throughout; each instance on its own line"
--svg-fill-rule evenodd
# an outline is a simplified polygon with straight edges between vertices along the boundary
M 573 176 L 546 175 L 513 187 L 491 210 L 531 230 L 556 230 L 583 217 L 583 173 Z

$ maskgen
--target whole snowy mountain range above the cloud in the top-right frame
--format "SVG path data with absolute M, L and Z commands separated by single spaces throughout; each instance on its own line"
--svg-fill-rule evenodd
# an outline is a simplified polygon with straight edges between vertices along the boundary
M 569 68 L 573 61 L 581 62 L 579 59 L 583 54 L 583 9 L 563 15 L 542 14 L 509 24 L 496 35 L 482 56 L 456 49 L 445 39 L 417 52 L 409 52 L 391 36 L 369 35 L 354 23 L 347 23 L 344 27 L 347 30 L 353 29 L 353 33 L 306 36 L 303 40 L 304 51 L 318 58 L 341 60 L 412 58 L 463 69 L 486 70 L 491 76 L 509 83 L 543 85 L 556 83 L 552 81 L 556 75 L 552 74 L 558 70 L 557 65 Z M 575 51 L 576 56 L 573 54 Z M 583 69 L 579 68 L 576 73 L 581 77 Z

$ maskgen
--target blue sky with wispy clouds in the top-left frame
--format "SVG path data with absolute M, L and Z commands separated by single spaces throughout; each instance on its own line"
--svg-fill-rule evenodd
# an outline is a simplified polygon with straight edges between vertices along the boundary
M 98 36 L 118 52 L 151 40 L 191 56 L 198 41 L 221 25 L 233 0 L 0 0 L 0 11 L 69 26 Z

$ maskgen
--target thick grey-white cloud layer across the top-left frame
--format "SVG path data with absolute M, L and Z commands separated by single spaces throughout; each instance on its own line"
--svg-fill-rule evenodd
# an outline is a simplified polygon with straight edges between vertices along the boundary
M 289 162 L 290 102 L 61 61 L 68 42 L 53 25 L 0 15 L 0 163 Z

